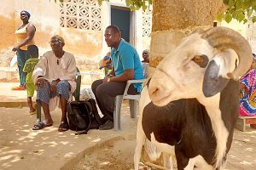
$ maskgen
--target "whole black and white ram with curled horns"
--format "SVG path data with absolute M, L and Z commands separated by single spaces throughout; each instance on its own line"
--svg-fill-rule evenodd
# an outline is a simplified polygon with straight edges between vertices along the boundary
M 135 169 L 146 138 L 175 152 L 179 170 L 224 169 L 239 110 L 237 80 L 252 64 L 251 55 L 247 40 L 229 28 L 184 38 L 143 88 Z

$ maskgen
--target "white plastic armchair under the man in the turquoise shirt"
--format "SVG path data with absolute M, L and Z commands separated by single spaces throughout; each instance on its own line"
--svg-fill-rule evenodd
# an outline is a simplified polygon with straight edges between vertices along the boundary
M 128 91 L 128 88 L 131 86 L 131 84 L 143 82 L 143 81 L 144 79 L 127 81 L 124 94 L 118 95 L 115 97 L 114 111 L 113 111 L 113 128 L 115 131 L 118 131 L 121 129 L 120 114 L 121 114 L 121 106 L 123 103 L 123 99 L 129 99 L 131 118 L 135 118 L 137 116 L 137 102 L 140 101 L 141 94 L 131 95 L 131 94 L 127 94 L 127 91 Z

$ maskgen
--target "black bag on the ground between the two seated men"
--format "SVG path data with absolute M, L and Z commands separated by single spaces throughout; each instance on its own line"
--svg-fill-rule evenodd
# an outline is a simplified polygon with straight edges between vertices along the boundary
M 94 99 L 71 101 L 67 104 L 69 128 L 86 134 L 90 129 L 98 129 L 102 124 Z

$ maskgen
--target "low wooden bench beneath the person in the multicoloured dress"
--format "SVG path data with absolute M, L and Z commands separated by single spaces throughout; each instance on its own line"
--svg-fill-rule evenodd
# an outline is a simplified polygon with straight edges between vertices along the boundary
M 245 132 L 246 124 L 250 124 L 250 127 L 256 129 L 256 116 L 239 116 L 236 122 L 236 128 Z

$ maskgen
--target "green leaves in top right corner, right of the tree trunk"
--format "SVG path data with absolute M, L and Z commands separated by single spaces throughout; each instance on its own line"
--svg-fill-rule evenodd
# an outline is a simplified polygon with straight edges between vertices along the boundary
M 249 18 L 252 18 L 253 22 L 256 22 L 256 0 L 224 0 L 223 1 L 228 8 L 224 11 L 224 14 L 218 14 L 216 19 L 218 21 L 225 20 L 230 23 L 232 19 L 247 23 Z

